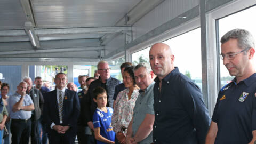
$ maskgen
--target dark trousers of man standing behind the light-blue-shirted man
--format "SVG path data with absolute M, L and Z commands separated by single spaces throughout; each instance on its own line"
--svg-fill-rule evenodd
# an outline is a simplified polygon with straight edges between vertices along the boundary
M 31 121 L 31 144 L 41 144 L 39 120 Z

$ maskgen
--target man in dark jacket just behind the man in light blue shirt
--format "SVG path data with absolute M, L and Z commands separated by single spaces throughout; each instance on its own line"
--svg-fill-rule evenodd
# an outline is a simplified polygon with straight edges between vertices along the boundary
M 24 77 L 23 81 L 28 84 L 26 93 L 30 95 L 31 99 L 34 102 L 35 110 L 32 112 L 31 116 L 31 144 L 39 144 L 40 141 L 40 132 L 39 132 L 39 118 L 43 110 L 44 99 L 40 90 L 32 87 L 32 80 L 30 77 Z

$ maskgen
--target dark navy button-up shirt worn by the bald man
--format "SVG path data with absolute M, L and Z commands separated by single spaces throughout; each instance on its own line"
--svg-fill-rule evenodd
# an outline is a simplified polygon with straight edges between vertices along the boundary
M 211 119 L 199 87 L 178 67 L 162 79 L 161 93 L 155 82 L 154 143 L 204 143 Z

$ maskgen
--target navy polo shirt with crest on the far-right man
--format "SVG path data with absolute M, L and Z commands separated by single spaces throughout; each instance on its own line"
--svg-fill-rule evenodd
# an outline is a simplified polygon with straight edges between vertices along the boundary
M 249 143 L 256 130 L 256 73 L 224 86 L 214 108 L 212 121 L 217 123 L 215 143 Z

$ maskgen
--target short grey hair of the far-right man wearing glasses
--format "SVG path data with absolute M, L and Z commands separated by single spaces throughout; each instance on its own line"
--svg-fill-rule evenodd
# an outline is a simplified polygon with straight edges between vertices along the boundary
M 238 47 L 240 49 L 255 48 L 255 42 L 252 34 L 245 29 L 233 29 L 228 31 L 220 39 L 221 44 L 226 43 L 229 39 L 237 39 Z

